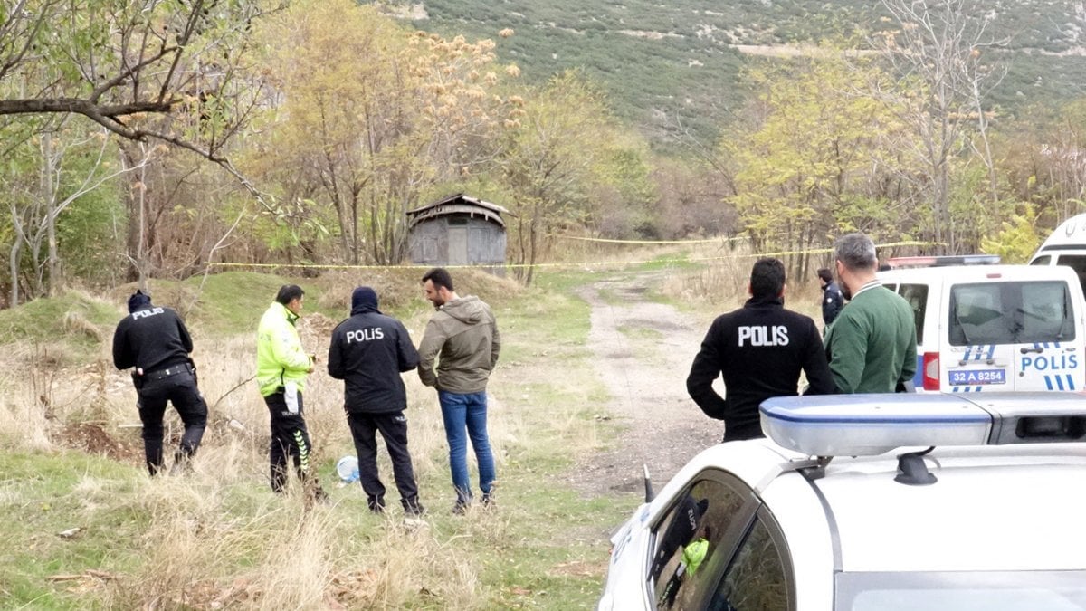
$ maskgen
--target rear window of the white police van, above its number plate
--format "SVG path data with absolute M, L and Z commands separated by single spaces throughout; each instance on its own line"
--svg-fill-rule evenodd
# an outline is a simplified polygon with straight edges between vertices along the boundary
M 948 328 L 951 346 L 1075 338 L 1071 295 L 1059 280 L 955 285 Z

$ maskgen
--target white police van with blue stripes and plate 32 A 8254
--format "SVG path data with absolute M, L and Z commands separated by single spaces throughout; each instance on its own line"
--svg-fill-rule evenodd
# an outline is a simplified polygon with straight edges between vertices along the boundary
M 990 262 L 902 258 L 879 272 L 915 316 L 917 390 L 1086 390 L 1086 303 L 1075 273 L 975 264 Z

